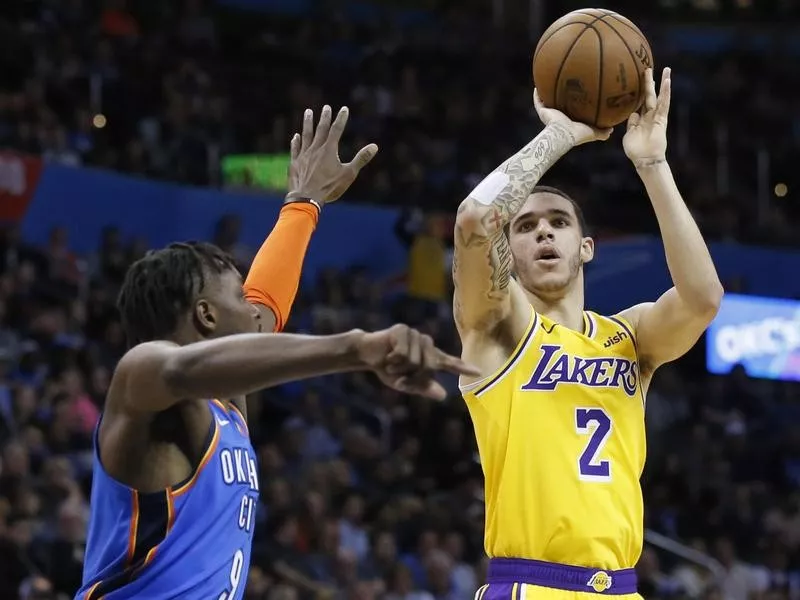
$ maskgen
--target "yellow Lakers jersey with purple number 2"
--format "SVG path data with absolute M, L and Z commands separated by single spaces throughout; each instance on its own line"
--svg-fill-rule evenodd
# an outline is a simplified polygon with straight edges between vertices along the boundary
M 644 393 L 620 317 L 534 313 L 494 375 L 462 387 L 486 479 L 486 553 L 616 570 L 643 543 Z

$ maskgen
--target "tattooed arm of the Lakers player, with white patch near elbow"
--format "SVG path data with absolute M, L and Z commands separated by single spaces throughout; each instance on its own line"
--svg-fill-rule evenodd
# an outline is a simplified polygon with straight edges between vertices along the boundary
M 458 209 L 453 311 L 465 347 L 472 334 L 502 333 L 511 347 L 521 338 L 530 308 L 511 279 L 511 249 L 504 228 L 559 158 L 573 146 L 611 135 L 611 130 L 596 130 L 545 108 L 536 95 L 534 104 L 545 129 L 478 184 Z

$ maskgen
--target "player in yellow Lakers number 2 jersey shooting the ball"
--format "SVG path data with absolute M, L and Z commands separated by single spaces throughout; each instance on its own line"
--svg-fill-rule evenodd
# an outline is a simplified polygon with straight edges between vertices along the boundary
M 722 297 L 666 160 L 670 71 L 623 140 L 655 210 L 674 287 L 614 316 L 584 310 L 594 242 L 579 205 L 538 187 L 574 146 L 608 138 L 544 107 L 544 130 L 459 207 L 454 314 L 486 479 L 487 583 L 478 600 L 636 598 L 639 477 L 653 372 L 698 340 Z M 609 210 L 614 210 L 609 206 Z M 514 277 L 512 277 L 512 273 Z

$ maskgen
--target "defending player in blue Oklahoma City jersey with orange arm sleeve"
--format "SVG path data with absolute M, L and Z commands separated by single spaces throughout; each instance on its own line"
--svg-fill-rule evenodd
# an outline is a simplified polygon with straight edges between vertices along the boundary
M 377 152 L 339 161 L 347 122 L 330 107 L 291 142 L 290 192 L 247 280 L 209 244 L 172 244 L 131 266 L 119 296 L 135 346 L 95 434 L 91 518 L 76 598 L 244 596 L 259 481 L 245 395 L 327 373 L 371 370 L 397 390 L 443 398 L 438 370 L 477 371 L 415 330 L 332 336 L 278 331 L 323 205 Z M 295 582 L 302 585 L 304 582 Z M 311 585 L 309 583 L 309 585 Z

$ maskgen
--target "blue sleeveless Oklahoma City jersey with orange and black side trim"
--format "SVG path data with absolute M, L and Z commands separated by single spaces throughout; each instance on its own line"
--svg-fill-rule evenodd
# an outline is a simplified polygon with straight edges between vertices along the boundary
M 258 502 L 256 454 L 233 407 L 214 419 L 203 459 L 173 488 L 141 493 L 106 473 L 95 433 L 91 519 L 76 600 L 244 596 Z

